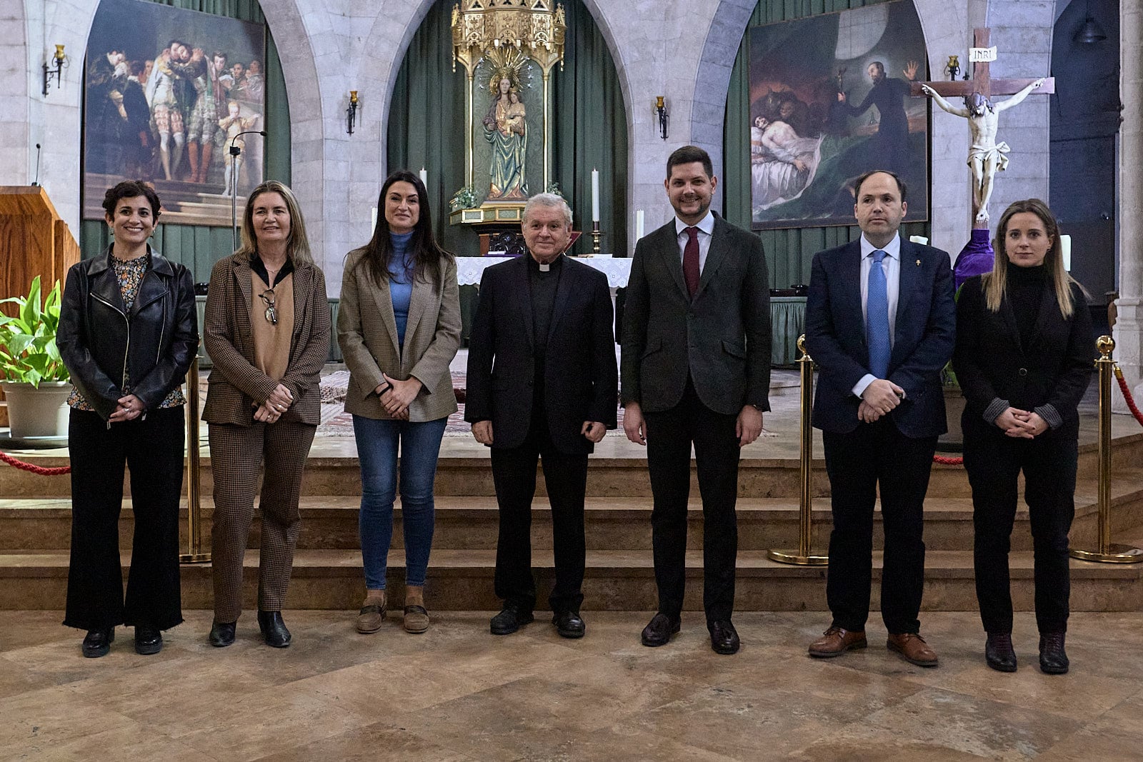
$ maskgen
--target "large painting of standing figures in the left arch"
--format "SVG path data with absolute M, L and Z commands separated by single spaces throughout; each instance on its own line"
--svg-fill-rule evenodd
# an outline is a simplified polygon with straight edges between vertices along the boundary
M 103 0 L 83 72 L 83 217 L 144 179 L 163 222 L 230 225 L 230 194 L 262 182 L 265 38 L 262 24 Z

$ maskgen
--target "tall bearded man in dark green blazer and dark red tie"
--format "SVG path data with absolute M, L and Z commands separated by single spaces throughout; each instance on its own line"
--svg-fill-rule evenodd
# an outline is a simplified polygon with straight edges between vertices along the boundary
M 644 645 L 679 632 L 686 581 L 690 448 L 703 495 L 703 608 L 718 653 L 738 650 L 730 623 L 738 550 L 740 448 L 769 410 L 770 303 L 762 242 L 710 210 L 710 155 L 666 161 L 674 218 L 636 244 L 624 312 L 623 427 L 647 446 L 658 612 Z

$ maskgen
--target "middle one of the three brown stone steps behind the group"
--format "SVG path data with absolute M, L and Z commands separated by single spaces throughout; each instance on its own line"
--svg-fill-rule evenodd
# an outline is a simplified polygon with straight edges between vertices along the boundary
M 1143 526 L 1143 468 L 1124 470 L 1112 481 L 1112 531 Z M 202 535 L 209 547 L 210 516 L 214 504 L 202 498 Z M 740 498 L 738 547 L 743 551 L 789 548 L 798 543 L 799 504 L 790 498 Z M 358 499 L 351 496 L 306 496 L 301 504 L 299 550 L 355 550 Z M 185 502 L 183 535 L 185 543 Z M 813 508 L 813 543 L 824 551 L 832 528 L 830 500 L 818 498 Z M 394 506 L 392 547 L 403 547 L 400 500 Z M 688 521 L 688 546 L 702 548 L 703 520 L 700 502 L 693 500 Z M 440 550 L 494 550 L 497 538 L 497 510 L 494 497 L 438 497 L 433 547 Z M 925 540 L 929 550 L 970 550 L 973 543 L 970 498 L 930 497 L 925 504 Z M 1071 542 L 1076 547 L 1097 543 L 1096 484 L 1081 481 L 1076 491 L 1076 520 Z M 600 551 L 650 551 L 650 500 L 641 497 L 588 498 L 585 505 L 588 547 Z M 881 547 L 880 512 L 874 546 Z M 134 513 L 130 498 L 120 515 L 120 546 L 130 547 Z M 551 548 L 551 512 L 547 500 L 537 498 L 533 507 L 533 546 Z M 258 547 L 261 522 L 255 518 L 248 546 Z M 0 552 L 66 550 L 71 542 L 71 504 L 61 498 L 0 498 Z M 1032 547 L 1029 512 L 1017 505 L 1012 547 Z

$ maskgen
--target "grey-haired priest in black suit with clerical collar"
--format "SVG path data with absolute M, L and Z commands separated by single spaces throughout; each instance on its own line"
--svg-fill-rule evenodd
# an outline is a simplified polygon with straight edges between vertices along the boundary
M 539 193 L 523 208 L 528 256 L 485 271 L 469 339 L 464 419 L 491 448 L 499 505 L 496 595 L 504 610 L 491 632 L 507 635 L 534 620 L 531 499 L 536 462 L 552 510 L 555 587 L 552 621 L 582 637 L 588 455 L 616 425 L 617 371 L 607 276 L 568 259 L 572 209 Z

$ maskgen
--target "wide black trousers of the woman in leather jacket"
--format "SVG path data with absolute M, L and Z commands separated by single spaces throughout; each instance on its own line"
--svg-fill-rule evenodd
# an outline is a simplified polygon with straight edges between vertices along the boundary
M 178 499 L 183 490 L 182 407 L 107 424 L 96 412 L 72 410 L 72 540 L 64 624 L 80 629 L 183 620 L 178 586 Z M 119 512 L 123 465 L 130 468 L 135 538 L 123 600 Z

